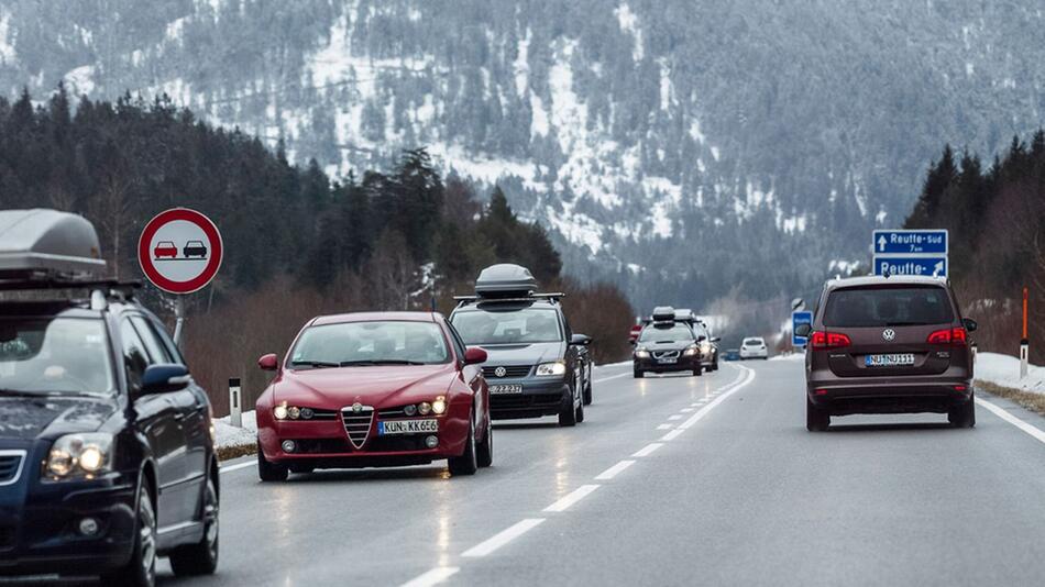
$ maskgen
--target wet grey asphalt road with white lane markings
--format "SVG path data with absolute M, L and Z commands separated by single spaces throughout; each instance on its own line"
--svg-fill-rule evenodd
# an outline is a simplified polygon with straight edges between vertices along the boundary
M 974 430 L 924 414 L 812 434 L 802 376 L 795 361 L 641 380 L 602 367 L 583 424 L 499 423 L 474 477 L 440 464 L 262 485 L 250 461 L 226 464 L 218 575 L 164 563 L 160 583 L 1045 583 L 1045 440 L 983 407 Z

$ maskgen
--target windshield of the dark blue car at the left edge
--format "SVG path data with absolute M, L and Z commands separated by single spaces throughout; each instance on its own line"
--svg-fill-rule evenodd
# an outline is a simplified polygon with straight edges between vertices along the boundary
M 108 395 L 116 388 L 100 319 L 0 319 L 0 390 Z

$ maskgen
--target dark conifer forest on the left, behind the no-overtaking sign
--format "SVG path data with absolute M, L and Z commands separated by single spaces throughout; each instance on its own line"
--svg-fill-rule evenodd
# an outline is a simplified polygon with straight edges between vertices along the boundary
M 218 278 L 187 297 L 185 351 L 194 375 L 227 409 L 227 379 L 248 397 L 265 378 L 263 353 L 283 353 L 306 320 L 364 309 L 453 308 L 493 263 L 529 267 L 562 289 L 573 328 L 596 339 L 598 361 L 627 353 L 634 312 L 617 288 L 582 286 L 539 224 L 520 220 L 499 188 L 481 198 L 442 178 L 424 148 L 386 171 L 331 181 L 315 160 L 288 162 L 255 137 L 213 128 L 165 99 L 80 99 L 59 87 L 45 102 L 0 98 L 0 208 L 84 214 L 113 277 L 141 279 L 135 244 L 144 224 L 173 207 L 209 215 L 226 257 Z M 173 324 L 173 299 L 141 296 Z

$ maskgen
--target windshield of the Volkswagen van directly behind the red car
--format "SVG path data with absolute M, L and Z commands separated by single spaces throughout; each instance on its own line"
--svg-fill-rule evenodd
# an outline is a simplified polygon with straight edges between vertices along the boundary
M 510 312 L 483 309 L 453 314 L 453 326 L 465 344 L 518 344 L 562 341 L 559 314 L 550 308 L 526 308 Z

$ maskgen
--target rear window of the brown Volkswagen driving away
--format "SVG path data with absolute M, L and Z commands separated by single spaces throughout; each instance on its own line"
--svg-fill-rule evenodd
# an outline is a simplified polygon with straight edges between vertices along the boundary
M 839 289 L 827 298 L 825 326 L 903 326 L 954 320 L 941 287 Z

